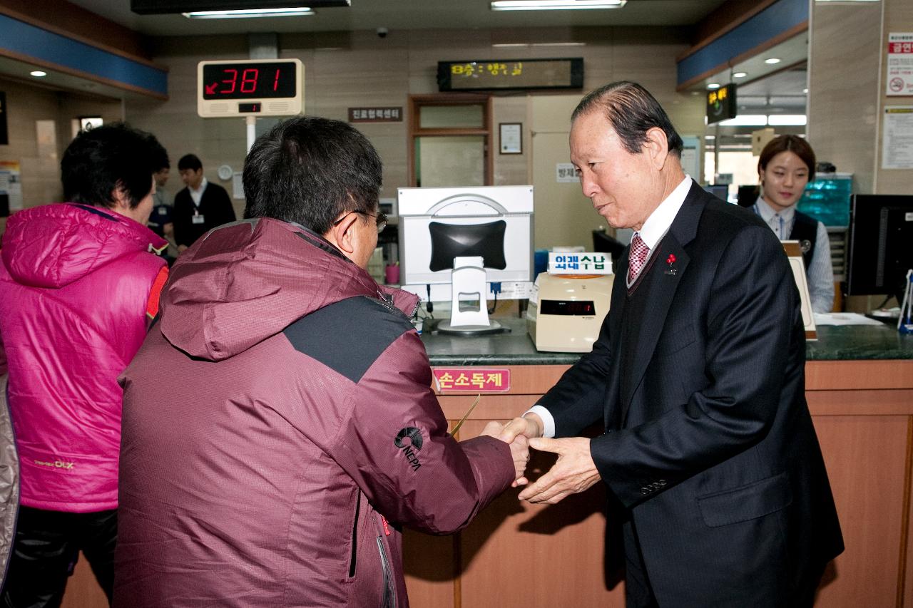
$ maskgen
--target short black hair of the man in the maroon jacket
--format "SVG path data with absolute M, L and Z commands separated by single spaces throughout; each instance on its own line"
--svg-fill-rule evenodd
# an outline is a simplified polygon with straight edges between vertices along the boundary
M 254 142 L 244 163 L 246 218 L 273 217 L 326 234 L 344 213 L 373 213 L 381 159 L 371 142 L 341 121 L 300 116 Z

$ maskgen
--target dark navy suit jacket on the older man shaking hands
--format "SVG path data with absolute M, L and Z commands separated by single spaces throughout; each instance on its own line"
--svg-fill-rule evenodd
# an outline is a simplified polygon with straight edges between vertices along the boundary
M 557 436 L 604 421 L 593 460 L 636 529 L 660 605 L 786 605 L 843 550 L 805 403 L 792 270 L 760 218 L 697 183 L 657 248 L 629 393 L 625 254 L 593 351 L 539 403 Z

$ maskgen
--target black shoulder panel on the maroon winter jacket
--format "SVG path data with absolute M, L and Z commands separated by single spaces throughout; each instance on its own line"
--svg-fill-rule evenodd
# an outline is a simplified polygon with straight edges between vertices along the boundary
M 357 383 L 412 323 L 393 304 L 358 296 L 315 310 L 285 330 L 296 351 Z

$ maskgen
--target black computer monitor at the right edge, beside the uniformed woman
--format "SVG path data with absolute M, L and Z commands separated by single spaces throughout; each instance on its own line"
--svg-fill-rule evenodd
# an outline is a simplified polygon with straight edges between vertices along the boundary
M 913 268 L 913 195 L 854 194 L 846 291 L 902 298 Z

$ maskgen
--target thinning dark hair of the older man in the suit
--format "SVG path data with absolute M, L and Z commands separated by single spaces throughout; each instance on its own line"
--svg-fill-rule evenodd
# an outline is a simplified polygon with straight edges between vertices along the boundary
M 646 131 L 658 127 L 666 133 L 669 152 L 681 158 L 684 143 L 672 126 L 666 110 L 663 110 L 648 90 L 636 82 L 612 82 L 588 93 L 573 110 L 571 121 L 597 109 L 604 112 L 626 151 L 632 154 L 642 152 Z

